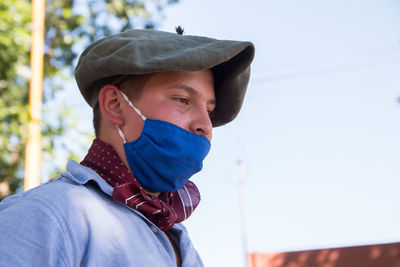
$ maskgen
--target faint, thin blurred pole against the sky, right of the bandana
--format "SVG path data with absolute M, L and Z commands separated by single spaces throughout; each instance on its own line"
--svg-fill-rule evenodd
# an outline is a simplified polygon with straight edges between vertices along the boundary
M 242 227 L 242 249 L 244 256 L 244 266 L 248 266 L 247 256 L 247 231 L 246 231 L 246 202 L 245 202 L 245 191 L 244 191 L 244 163 L 241 160 L 237 161 L 238 172 L 239 172 L 239 202 L 240 202 L 240 214 L 241 214 L 241 227 Z

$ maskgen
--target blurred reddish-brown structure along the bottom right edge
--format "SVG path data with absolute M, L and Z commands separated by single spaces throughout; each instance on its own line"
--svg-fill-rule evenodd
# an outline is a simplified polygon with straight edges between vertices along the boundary
M 400 267 L 400 243 L 251 253 L 249 267 Z

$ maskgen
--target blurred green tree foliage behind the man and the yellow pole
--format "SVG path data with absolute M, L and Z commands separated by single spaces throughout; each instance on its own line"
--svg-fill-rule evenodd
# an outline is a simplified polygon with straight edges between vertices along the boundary
M 81 49 L 105 35 L 133 28 L 155 28 L 162 11 L 179 0 L 47 0 L 43 101 L 73 77 Z M 29 121 L 31 1 L 0 2 L 0 199 L 23 181 Z M 60 82 L 61 81 L 61 82 Z M 69 107 L 58 109 L 60 123 L 42 122 L 43 150 L 54 153 L 54 139 L 71 125 Z M 44 117 L 45 118 L 45 117 Z

